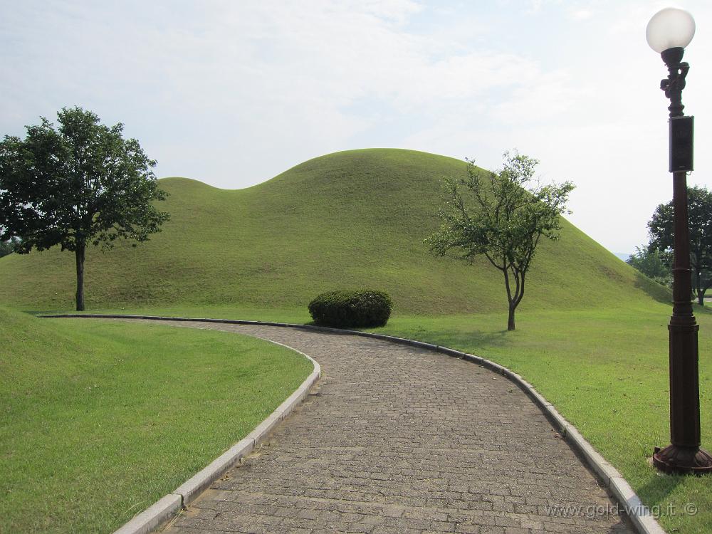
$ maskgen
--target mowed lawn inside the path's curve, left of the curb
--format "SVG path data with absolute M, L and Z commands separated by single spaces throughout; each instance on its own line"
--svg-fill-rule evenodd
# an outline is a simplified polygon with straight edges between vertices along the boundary
M 311 372 L 233 333 L 0 308 L 0 532 L 110 532 L 248 434 Z

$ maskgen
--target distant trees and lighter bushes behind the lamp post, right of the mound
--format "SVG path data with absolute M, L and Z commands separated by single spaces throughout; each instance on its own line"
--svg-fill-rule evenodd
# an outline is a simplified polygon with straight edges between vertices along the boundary
M 688 187 L 690 266 L 693 298 L 704 305 L 712 287 L 712 192 L 705 187 Z M 636 247 L 627 263 L 666 286 L 672 284 L 674 220 L 672 201 L 660 204 L 648 223 L 650 241 Z

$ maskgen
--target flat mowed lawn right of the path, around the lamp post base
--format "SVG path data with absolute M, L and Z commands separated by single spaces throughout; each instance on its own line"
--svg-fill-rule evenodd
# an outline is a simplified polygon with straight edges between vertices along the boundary
M 712 450 L 712 313 L 696 307 L 702 443 Z M 654 507 L 669 533 L 712 532 L 712 478 L 661 475 L 654 446 L 669 436 L 671 307 L 531 310 L 507 332 L 506 313 L 393 317 L 375 331 L 487 357 L 518 372 L 574 424 Z M 686 508 L 691 503 L 693 508 Z M 691 511 L 696 513 L 691 513 Z

